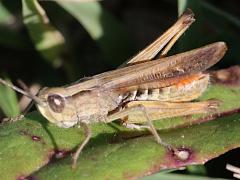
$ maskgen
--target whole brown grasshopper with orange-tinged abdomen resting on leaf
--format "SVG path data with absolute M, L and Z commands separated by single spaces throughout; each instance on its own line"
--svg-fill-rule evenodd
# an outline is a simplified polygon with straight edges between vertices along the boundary
M 86 139 L 73 155 L 73 167 L 91 138 L 89 124 L 93 122 L 121 119 L 128 128 L 148 129 L 157 143 L 174 149 L 161 140 L 152 120 L 215 111 L 219 105 L 217 100 L 190 101 L 207 89 L 209 74 L 203 71 L 217 63 L 227 50 L 224 42 L 216 42 L 165 57 L 192 22 L 193 13 L 187 10 L 124 67 L 71 85 L 44 88 L 37 96 L 2 79 L 0 82 L 33 99 L 40 113 L 59 127 L 80 124 L 84 128 Z M 160 56 L 151 61 L 158 54 Z

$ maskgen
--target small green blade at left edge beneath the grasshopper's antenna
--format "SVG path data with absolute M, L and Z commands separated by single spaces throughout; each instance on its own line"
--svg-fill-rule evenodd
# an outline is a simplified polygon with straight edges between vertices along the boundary
M 0 85 L 0 108 L 7 117 L 20 114 L 16 92 L 4 85 Z

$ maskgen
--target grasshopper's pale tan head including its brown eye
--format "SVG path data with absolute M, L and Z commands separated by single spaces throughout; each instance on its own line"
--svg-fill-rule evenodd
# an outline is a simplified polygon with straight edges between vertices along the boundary
M 40 113 L 60 127 L 71 127 L 78 122 L 75 104 L 64 88 L 44 88 L 39 94 L 44 103 L 36 103 Z

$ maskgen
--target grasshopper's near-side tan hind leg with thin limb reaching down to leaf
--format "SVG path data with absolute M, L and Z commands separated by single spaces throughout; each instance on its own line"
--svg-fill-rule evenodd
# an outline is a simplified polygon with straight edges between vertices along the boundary
M 159 102 L 159 101 L 132 101 L 121 111 L 108 115 L 106 123 L 115 119 L 125 119 L 125 126 L 132 129 L 148 129 L 154 136 L 157 143 L 166 147 L 174 154 L 179 154 L 179 150 L 160 138 L 154 127 L 152 120 L 186 116 L 192 114 L 215 112 L 219 106 L 218 100 L 207 100 L 201 102 Z M 137 124 L 147 123 L 147 125 Z

